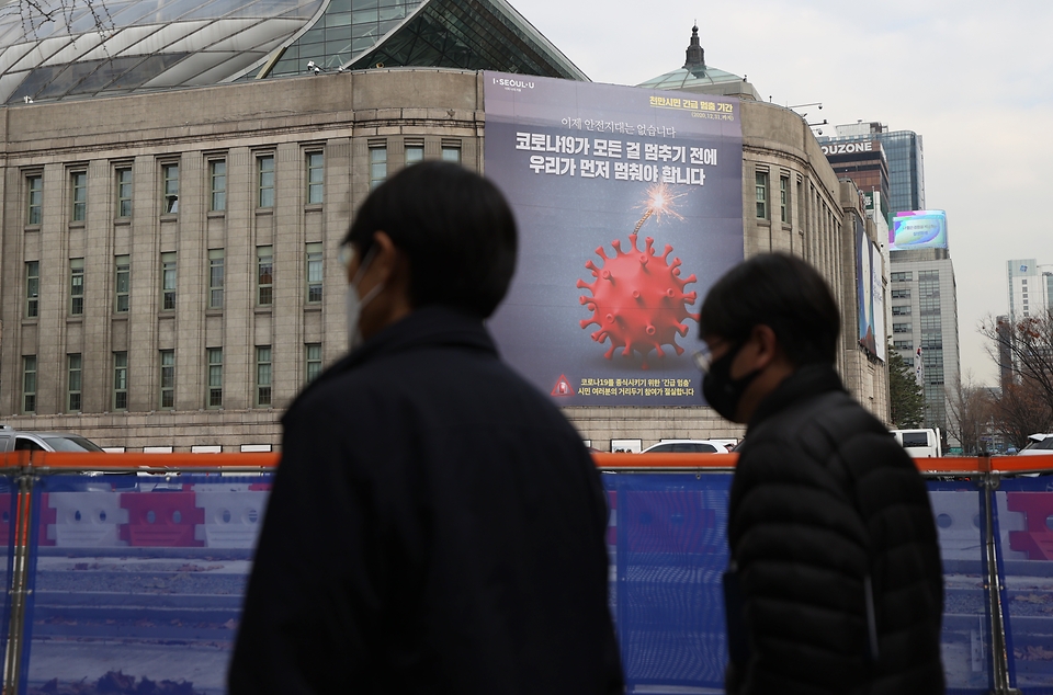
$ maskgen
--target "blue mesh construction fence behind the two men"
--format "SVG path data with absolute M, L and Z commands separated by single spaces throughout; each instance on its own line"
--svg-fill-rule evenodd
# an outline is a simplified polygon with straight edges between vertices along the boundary
M 129 455 L 107 464 L 121 456 Z M 272 474 L 197 455 L 206 456 L 215 468 L 3 470 L 4 693 L 226 692 Z M 693 468 L 618 456 L 634 456 L 633 467 L 599 463 L 629 692 L 722 693 L 733 471 L 706 455 Z M 1011 477 L 980 466 L 926 472 L 951 693 L 1001 684 L 1053 694 L 1053 457 L 1049 464 Z

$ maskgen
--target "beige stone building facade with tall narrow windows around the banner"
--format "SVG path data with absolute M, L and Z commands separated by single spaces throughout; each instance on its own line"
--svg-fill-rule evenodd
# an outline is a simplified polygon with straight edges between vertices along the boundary
M 842 220 L 862 214 L 858 194 L 800 116 L 741 113 L 746 254 L 811 261 L 853 326 Z M 0 415 L 127 451 L 278 445 L 282 409 L 346 350 L 337 249 L 352 212 L 420 159 L 482 169 L 486 121 L 480 73 L 423 68 L 4 115 Z M 886 419 L 886 372 L 842 348 L 850 389 Z M 598 448 L 741 434 L 701 406 L 566 412 Z

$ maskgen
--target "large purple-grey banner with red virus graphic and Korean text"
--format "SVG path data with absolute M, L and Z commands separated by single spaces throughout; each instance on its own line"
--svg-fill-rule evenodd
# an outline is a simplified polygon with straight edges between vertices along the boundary
M 485 72 L 519 263 L 489 321 L 564 406 L 697 406 L 698 311 L 743 260 L 737 99 Z

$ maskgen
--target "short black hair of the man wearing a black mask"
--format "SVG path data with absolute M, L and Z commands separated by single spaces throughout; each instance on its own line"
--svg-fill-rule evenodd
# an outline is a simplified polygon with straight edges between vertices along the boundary
M 762 253 L 724 274 L 702 303 L 700 335 L 740 341 L 768 326 L 796 366 L 834 364 L 841 316 L 829 285 L 807 262 Z

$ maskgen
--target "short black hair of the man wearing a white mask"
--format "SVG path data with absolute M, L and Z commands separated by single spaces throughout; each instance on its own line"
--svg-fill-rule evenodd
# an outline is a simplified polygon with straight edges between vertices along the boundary
M 384 231 L 409 259 L 415 308 L 444 305 L 483 318 L 516 270 L 512 210 L 497 186 L 458 164 L 429 161 L 374 190 L 343 239 L 364 257 Z

